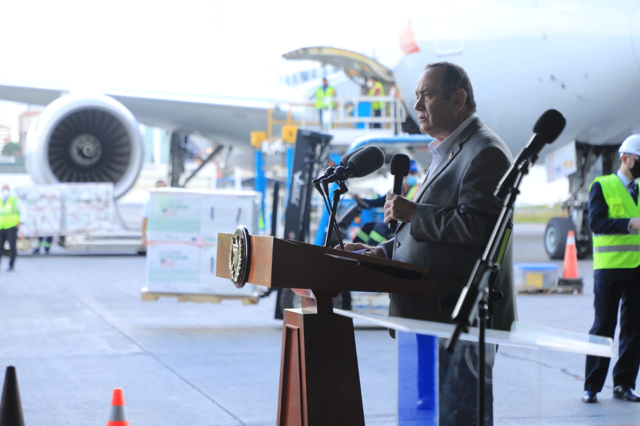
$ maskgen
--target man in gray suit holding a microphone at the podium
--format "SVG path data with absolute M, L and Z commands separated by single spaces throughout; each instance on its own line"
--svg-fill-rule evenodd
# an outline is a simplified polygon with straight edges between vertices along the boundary
M 476 115 L 468 75 L 448 62 L 430 63 L 415 90 L 420 132 L 432 136 L 433 162 L 420 189 L 407 200 L 387 194 L 385 222 L 401 222 L 394 239 L 378 246 L 346 244 L 350 251 L 385 256 L 429 267 L 436 283 L 433 296 L 392 294 L 389 315 L 452 322 L 458 296 L 481 258 L 500 214 L 493 195 L 513 162 L 509 148 Z M 509 330 L 516 318 L 511 244 L 500 265 L 494 289 L 503 299 L 492 304 L 492 327 Z M 477 345 L 459 342 L 451 356 L 440 342 L 440 425 L 473 424 L 476 413 Z M 492 359 L 493 352 L 487 358 Z M 477 356 L 476 356 L 477 359 Z M 469 365 L 472 364 L 472 365 Z M 488 368 L 490 378 L 491 368 Z M 466 380 L 465 380 L 466 379 Z M 487 420 L 492 424 L 492 387 Z

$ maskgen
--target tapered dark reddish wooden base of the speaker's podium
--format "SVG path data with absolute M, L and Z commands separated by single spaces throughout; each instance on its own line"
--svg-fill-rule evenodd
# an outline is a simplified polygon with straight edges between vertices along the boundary
M 364 426 L 353 319 L 285 310 L 279 426 Z

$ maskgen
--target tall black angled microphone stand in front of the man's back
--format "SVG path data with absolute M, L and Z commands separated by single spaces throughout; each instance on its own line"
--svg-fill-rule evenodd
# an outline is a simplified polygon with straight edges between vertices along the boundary
M 529 173 L 529 167 L 536 162 L 538 154 L 536 152 L 525 152 L 524 150 L 516 161 L 517 173 L 508 171 L 508 176 L 503 178 L 495 195 L 502 201 L 502 210 L 500 216 L 493 227 L 491 238 L 489 239 L 482 258 L 478 259 L 474 271 L 472 272 L 467 286 L 463 288 L 456 308 L 452 313 L 453 322 L 456 323 L 449 343 L 447 343 L 447 352 L 452 353 L 455 345 L 460 338 L 460 333 L 467 333 L 468 327 L 473 324 L 476 319 L 476 311 L 479 311 L 478 317 L 478 425 L 484 426 L 484 400 L 485 380 L 486 380 L 486 348 L 485 331 L 489 320 L 490 303 L 493 299 L 502 299 L 502 294 L 494 295 L 493 281 L 495 275 L 500 269 L 502 255 L 511 237 L 511 217 L 513 216 L 513 206 L 516 196 L 520 193 L 518 187 L 524 175 Z M 502 199 L 498 194 L 507 193 Z M 509 226 L 509 228 L 508 228 Z

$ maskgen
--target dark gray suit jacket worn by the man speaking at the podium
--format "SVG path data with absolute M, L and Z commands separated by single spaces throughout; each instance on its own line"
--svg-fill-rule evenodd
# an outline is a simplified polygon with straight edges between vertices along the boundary
M 394 239 L 383 242 L 393 260 L 429 267 L 434 296 L 392 294 L 389 315 L 451 322 L 458 296 L 483 255 L 501 206 L 493 191 L 513 162 L 509 148 L 477 118 L 452 143 L 413 201 L 411 223 L 401 223 Z M 500 265 L 493 304 L 493 328 L 509 330 L 516 319 L 511 243 Z

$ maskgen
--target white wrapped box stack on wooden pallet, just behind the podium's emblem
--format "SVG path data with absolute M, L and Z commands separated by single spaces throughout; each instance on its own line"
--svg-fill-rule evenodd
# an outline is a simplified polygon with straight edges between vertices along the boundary
M 159 188 L 150 194 L 146 292 L 255 296 L 255 286 L 236 288 L 216 277 L 218 232 L 244 225 L 257 229 L 255 191 Z

